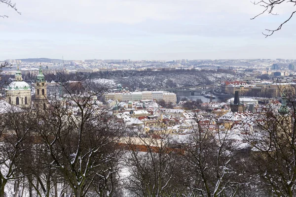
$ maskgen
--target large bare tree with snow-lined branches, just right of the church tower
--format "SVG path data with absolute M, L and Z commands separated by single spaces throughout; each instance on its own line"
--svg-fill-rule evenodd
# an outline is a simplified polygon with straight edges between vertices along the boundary
M 75 197 L 113 196 L 109 179 L 116 175 L 116 141 L 122 128 L 105 113 L 97 97 L 106 88 L 90 81 L 60 84 L 65 95 L 38 113 L 37 136 Z M 111 176 L 112 175 L 112 176 Z M 106 181 L 107 179 L 107 181 Z M 112 182 L 113 183 L 113 182 Z

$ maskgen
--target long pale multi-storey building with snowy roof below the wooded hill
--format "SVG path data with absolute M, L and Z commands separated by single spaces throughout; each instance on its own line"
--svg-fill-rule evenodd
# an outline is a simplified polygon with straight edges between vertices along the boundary
M 128 101 L 128 100 L 164 100 L 166 103 L 177 103 L 177 95 L 165 91 L 143 91 L 143 92 L 120 92 L 120 93 L 107 93 L 104 95 L 104 99 Z

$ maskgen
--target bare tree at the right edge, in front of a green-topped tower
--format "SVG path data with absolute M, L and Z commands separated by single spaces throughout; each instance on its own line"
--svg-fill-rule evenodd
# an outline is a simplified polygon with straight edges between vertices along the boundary
M 272 104 L 259 108 L 257 131 L 247 136 L 254 146 L 253 163 L 261 178 L 259 183 L 267 188 L 269 196 L 296 195 L 295 110 L 294 93 L 286 94 L 280 108 Z

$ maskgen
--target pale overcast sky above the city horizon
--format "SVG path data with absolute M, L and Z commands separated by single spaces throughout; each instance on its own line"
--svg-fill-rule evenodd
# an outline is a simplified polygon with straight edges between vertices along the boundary
M 250 0 L 12 0 L 0 4 L 0 60 L 296 59 L 293 7 L 262 15 Z M 295 9 L 295 8 L 294 8 Z

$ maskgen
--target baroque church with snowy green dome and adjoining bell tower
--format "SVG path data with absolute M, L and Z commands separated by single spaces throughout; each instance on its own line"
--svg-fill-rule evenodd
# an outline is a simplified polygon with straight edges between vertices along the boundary
M 35 100 L 34 106 L 42 106 L 45 109 L 46 101 L 46 82 L 45 77 L 42 73 L 41 66 L 39 67 L 39 73 L 37 75 L 37 80 L 35 83 Z M 15 106 L 19 107 L 30 107 L 31 101 L 31 87 L 28 83 L 23 81 L 22 73 L 17 67 L 17 71 L 14 76 L 14 81 L 11 82 L 6 90 L 6 101 Z

